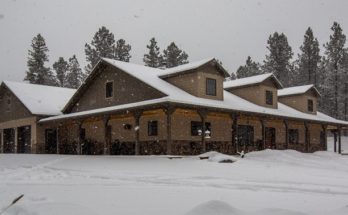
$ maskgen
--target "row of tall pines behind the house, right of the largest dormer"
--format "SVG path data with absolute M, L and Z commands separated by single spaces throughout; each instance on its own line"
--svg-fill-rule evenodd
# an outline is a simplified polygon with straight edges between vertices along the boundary
M 319 110 L 335 118 L 348 118 L 348 48 L 346 36 L 339 23 L 331 27 L 328 42 L 320 52 L 318 39 L 309 27 L 300 46 L 300 53 L 294 53 L 284 33 L 275 32 L 267 41 L 268 54 L 262 63 L 250 56 L 245 65 L 238 68 L 232 79 L 272 72 L 284 87 L 313 84 L 322 98 Z

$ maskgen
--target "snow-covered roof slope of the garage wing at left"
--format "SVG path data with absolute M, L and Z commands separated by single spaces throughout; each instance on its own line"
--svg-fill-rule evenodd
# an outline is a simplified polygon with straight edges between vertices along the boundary
M 34 115 L 59 115 L 76 90 L 62 87 L 3 81 L 3 84 Z

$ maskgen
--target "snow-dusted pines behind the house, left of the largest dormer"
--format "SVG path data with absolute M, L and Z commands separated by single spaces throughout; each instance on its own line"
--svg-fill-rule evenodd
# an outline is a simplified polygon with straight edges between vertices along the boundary
M 188 54 L 181 50 L 174 42 L 161 53 L 156 39 L 150 39 L 146 46 L 148 53 L 144 54 L 143 62 L 146 66 L 155 68 L 171 68 L 188 63 Z M 27 71 L 24 80 L 32 84 L 49 86 L 78 88 L 88 74 L 93 70 L 98 61 L 105 57 L 114 60 L 129 62 L 131 59 L 131 45 L 124 39 L 115 40 L 114 34 L 105 26 L 102 26 L 94 34 L 92 41 L 85 44 L 87 66 L 84 70 L 73 55 L 68 60 L 59 57 L 52 64 L 49 62 L 49 49 L 41 34 L 31 41 L 31 49 L 28 51 Z

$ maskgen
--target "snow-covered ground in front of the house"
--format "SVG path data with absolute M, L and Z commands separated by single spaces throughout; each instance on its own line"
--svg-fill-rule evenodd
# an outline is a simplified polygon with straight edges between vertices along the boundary
M 6 214 L 348 214 L 348 156 L 218 158 L 0 154 L 0 209 L 24 194 Z

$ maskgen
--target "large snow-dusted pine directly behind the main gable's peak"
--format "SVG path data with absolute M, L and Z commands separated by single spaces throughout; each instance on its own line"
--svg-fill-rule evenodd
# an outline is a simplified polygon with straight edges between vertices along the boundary
M 95 33 L 91 44 L 85 44 L 85 54 L 88 65 L 86 71 L 89 73 L 98 63 L 100 58 L 114 58 L 115 37 L 106 27 L 102 26 Z

